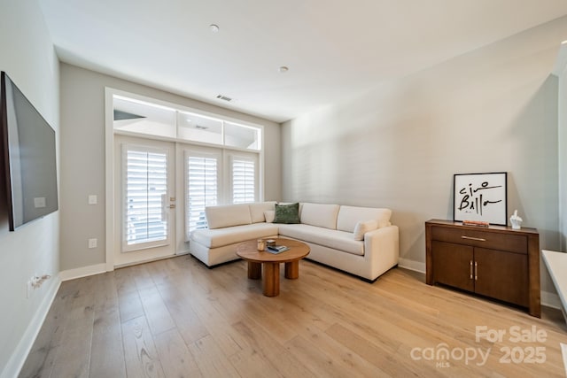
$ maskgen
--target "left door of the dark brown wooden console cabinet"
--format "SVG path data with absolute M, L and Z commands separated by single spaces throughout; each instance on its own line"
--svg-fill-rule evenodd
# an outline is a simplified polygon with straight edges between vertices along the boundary
M 444 283 L 455 288 L 473 291 L 474 280 L 470 277 L 473 263 L 473 248 L 468 245 L 433 241 L 433 282 Z

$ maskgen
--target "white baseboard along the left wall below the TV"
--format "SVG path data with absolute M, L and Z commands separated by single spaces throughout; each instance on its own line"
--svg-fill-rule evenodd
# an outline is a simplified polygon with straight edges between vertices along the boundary
M 26 328 L 26 332 L 19 340 L 18 346 L 12 352 L 12 356 L 8 360 L 0 378 L 12 378 L 17 377 L 22 366 L 26 362 L 27 355 L 31 351 L 32 346 L 35 343 L 35 338 L 39 334 L 40 329 L 42 329 L 43 321 L 47 317 L 47 313 L 50 311 L 51 304 L 57 295 L 59 286 L 61 285 L 61 280 L 58 276 L 53 277 L 53 280 L 49 280 L 46 283 L 50 283 L 50 286 L 46 290 L 45 296 L 43 297 L 42 303 L 37 308 L 34 317 L 29 322 Z

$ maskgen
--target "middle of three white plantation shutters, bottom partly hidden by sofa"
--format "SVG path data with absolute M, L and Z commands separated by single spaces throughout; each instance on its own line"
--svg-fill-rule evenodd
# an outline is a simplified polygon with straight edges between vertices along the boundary
M 206 228 L 205 207 L 218 203 L 219 158 L 201 154 L 186 154 L 185 238 L 190 232 Z

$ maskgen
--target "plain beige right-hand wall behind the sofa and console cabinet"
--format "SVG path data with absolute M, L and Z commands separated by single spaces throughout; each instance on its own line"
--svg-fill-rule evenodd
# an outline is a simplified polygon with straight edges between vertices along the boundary
M 424 269 L 423 222 L 452 219 L 453 174 L 508 172 L 509 215 L 517 209 L 540 246 L 556 249 L 550 73 L 566 36 L 557 19 L 286 122 L 283 200 L 392 208 L 400 257 Z

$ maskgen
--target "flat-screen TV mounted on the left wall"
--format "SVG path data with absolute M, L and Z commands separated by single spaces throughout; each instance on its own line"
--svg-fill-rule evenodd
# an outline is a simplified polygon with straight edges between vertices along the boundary
M 0 129 L 10 230 L 58 210 L 55 130 L 4 72 Z

